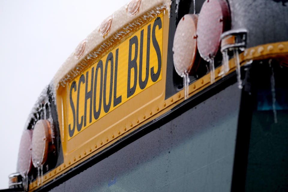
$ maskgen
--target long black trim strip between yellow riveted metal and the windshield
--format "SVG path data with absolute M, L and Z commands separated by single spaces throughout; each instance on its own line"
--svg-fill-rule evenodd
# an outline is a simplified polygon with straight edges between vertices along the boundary
M 134 142 L 140 137 L 150 133 L 151 131 L 159 128 L 160 126 L 166 124 L 167 122 L 170 122 L 172 119 L 180 116 L 182 113 L 195 107 L 197 104 L 205 101 L 206 99 L 210 98 L 212 95 L 215 95 L 216 93 L 222 91 L 223 89 L 225 89 L 229 85 L 234 84 L 235 82 L 236 82 L 236 75 L 234 71 L 233 73 L 230 73 L 227 76 L 224 76 L 222 79 L 215 82 L 213 85 L 210 85 L 209 87 L 205 88 L 203 91 L 183 101 L 182 103 L 180 103 L 179 105 L 177 105 L 176 107 L 168 111 L 167 113 L 163 114 L 157 119 L 152 120 L 151 122 L 146 123 L 142 127 L 138 128 L 137 130 L 131 132 L 130 134 L 119 139 L 118 141 L 111 144 L 107 148 L 103 149 L 98 154 L 87 159 L 85 162 L 78 164 L 76 167 L 73 167 L 72 169 L 68 170 L 66 173 L 63 173 L 61 176 L 58 176 L 56 179 L 52 180 L 48 184 L 43 185 L 41 188 L 38 188 L 35 191 L 51 190 L 55 186 L 81 173 L 83 170 L 88 169 L 89 167 L 93 166 L 94 164 L 98 163 L 104 158 L 109 157 L 113 153 L 119 151 L 120 149 L 124 148 L 125 146 Z

